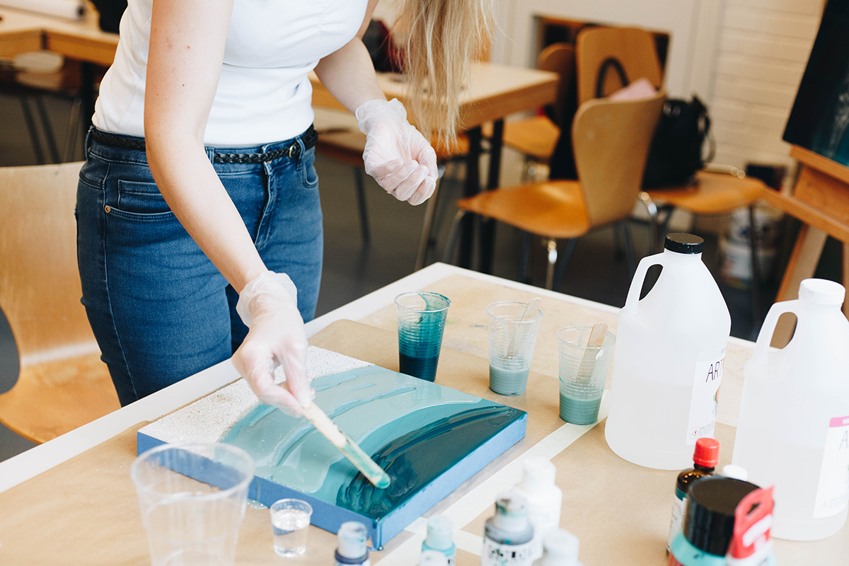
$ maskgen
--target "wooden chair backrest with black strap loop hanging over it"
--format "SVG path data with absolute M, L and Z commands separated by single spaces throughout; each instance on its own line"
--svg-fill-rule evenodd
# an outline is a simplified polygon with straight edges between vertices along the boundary
M 657 88 L 663 84 L 655 39 L 648 31 L 635 27 L 588 27 L 578 32 L 575 43 L 578 104 L 596 98 L 599 68 L 609 57 L 619 60 L 628 81 L 645 77 Z M 611 69 L 605 77 L 602 93 L 608 96 L 623 86 Z

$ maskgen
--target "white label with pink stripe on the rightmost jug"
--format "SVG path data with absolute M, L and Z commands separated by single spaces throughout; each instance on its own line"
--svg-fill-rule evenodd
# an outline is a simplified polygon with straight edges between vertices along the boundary
M 849 417 L 835 417 L 825 435 L 813 518 L 841 513 L 849 503 Z

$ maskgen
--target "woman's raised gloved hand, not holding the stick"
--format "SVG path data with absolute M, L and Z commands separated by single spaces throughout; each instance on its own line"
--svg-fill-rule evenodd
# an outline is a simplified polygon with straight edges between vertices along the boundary
M 398 200 L 420 205 L 436 188 L 436 152 L 407 121 L 397 98 L 369 100 L 357 108 L 357 127 L 366 135 L 366 172 Z

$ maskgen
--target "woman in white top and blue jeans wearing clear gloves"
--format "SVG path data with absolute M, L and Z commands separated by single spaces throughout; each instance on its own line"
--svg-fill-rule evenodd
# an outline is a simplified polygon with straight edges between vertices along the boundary
M 356 113 L 383 188 L 418 205 L 436 183 L 433 149 L 361 41 L 375 4 L 130 0 L 77 193 L 82 302 L 122 404 L 230 356 L 261 401 L 310 402 L 303 320 L 323 241 L 307 73 Z M 413 95 L 449 109 L 437 125 L 413 96 L 419 125 L 450 137 L 485 3 L 401 13 Z

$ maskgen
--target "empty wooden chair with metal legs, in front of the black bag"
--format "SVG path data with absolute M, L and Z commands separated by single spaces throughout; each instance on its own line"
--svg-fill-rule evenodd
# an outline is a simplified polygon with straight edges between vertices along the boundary
M 664 99 L 661 91 L 644 100 L 598 99 L 582 104 L 571 132 L 579 180 L 533 182 L 458 201 L 460 210 L 454 219 L 446 261 L 453 255 L 460 221 L 466 213 L 473 212 L 526 232 L 522 279 L 527 269 L 530 234 L 545 238 L 548 289 L 557 289 L 576 239 L 595 227 L 616 224 L 621 229 L 633 272 L 635 261 L 627 219 L 637 201 L 649 143 Z M 555 277 L 558 239 L 568 242 Z

